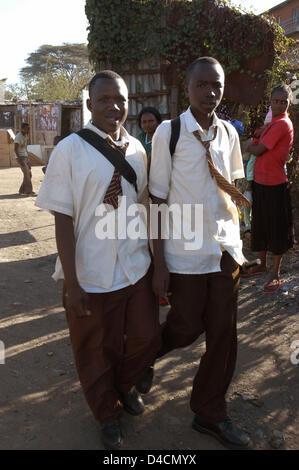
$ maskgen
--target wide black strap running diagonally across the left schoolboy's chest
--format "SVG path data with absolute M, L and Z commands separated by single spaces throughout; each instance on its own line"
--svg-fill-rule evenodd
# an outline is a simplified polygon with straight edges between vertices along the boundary
M 127 162 L 121 152 L 111 147 L 106 139 L 90 129 L 80 129 L 76 134 L 101 152 L 104 157 L 116 168 L 121 176 L 131 183 L 137 193 L 137 176 L 135 170 Z

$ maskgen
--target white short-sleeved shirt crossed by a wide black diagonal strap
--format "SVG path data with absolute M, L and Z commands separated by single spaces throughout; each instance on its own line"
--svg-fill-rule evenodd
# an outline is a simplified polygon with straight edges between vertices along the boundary
M 86 127 L 107 137 L 91 123 Z M 129 142 L 126 159 L 136 172 L 138 188 L 137 194 L 133 185 L 121 177 L 123 196 L 126 196 L 121 205 L 125 207 L 124 202 L 129 207 L 138 202 L 147 185 L 146 155 L 142 144 L 122 128 L 121 143 L 125 142 Z M 71 134 L 55 147 L 36 198 L 37 206 L 73 218 L 76 273 L 87 292 L 110 292 L 135 284 L 150 265 L 146 238 L 99 239 L 97 236 L 100 217 L 96 209 L 104 199 L 113 173 L 114 166 L 98 150 L 77 134 Z M 118 211 L 113 213 L 117 215 Z M 117 224 L 116 220 L 116 227 Z M 53 278 L 64 278 L 59 257 Z

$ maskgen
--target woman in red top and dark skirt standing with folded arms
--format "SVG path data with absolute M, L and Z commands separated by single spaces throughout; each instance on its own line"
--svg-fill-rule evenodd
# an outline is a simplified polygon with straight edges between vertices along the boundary
M 259 252 L 258 272 L 266 272 L 267 251 L 273 253 L 273 268 L 265 293 L 276 292 L 282 285 L 282 255 L 293 246 L 292 210 L 285 163 L 293 144 L 294 129 L 287 115 L 292 91 L 285 84 L 271 93 L 272 121 L 259 143 L 249 152 L 256 155 L 254 166 L 251 249 Z M 253 268 L 254 269 L 254 268 Z M 258 273 L 256 272 L 256 274 Z

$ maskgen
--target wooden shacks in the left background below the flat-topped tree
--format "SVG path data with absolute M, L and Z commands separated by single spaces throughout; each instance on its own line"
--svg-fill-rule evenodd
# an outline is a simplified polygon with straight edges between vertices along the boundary
M 28 122 L 30 126 L 29 144 L 37 149 L 38 156 L 47 163 L 53 150 L 54 137 L 56 135 L 66 137 L 82 127 L 82 103 L 61 101 L 0 103 L 0 129 L 10 129 L 17 134 L 21 130 L 22 122 Z M 3 149 L 1 156 L 0 148 L 0 164 L 6 160 Z

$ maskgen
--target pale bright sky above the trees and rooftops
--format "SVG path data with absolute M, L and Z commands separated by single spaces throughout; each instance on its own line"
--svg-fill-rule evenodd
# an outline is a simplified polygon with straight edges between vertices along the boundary
M 256 14 L 283 0 L 233 0 Z M 87 44 L 85 0 L 0 0 L 0 80 L 19 82 L 26 58 L 43 44 Z

